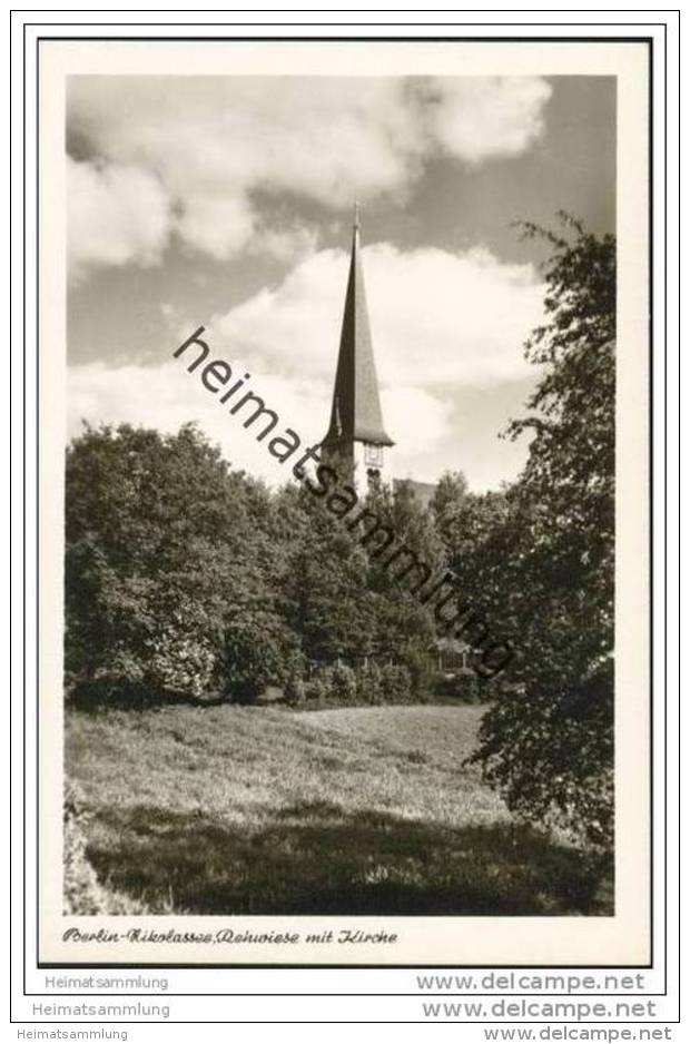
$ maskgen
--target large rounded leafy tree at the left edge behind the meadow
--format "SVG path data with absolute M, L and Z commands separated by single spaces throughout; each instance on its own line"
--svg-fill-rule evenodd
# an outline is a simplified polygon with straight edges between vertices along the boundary
M 194 698 L 260 687 L 292 640 L 268 503 L 191 425 L 87 427 L 67 453 L 68 682 Z

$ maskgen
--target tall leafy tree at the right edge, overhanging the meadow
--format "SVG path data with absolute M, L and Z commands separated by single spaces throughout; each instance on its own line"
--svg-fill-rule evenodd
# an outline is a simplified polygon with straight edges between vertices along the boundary
M 610 846 L 613 835 L 615 242 L 561 215 L 545 322 L 525 345 L 543 368 L 525 469 L 506 493 L 503 620 L 516 657 L 474 757 L 511 808 Z M 499 538 L 500 539 L 500 538 Z

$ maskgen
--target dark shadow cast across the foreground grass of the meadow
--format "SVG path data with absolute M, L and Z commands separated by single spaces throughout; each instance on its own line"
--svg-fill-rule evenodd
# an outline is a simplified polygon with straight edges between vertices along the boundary
M 99 879 L 188 914 L 610 915 L 601 870 L 529 827 L 451 828 L 328 802 L 267 825 L 138 806 L 96 815 Z

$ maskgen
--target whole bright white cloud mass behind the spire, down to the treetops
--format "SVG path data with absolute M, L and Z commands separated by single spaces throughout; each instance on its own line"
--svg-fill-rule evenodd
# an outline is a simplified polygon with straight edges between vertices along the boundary
M 516 473 L 524 451 L 510 443 L 496 449 L 496 429 L 483 425 L 481 407 L 467 417 L 460 404 L 469 386 L 490 390 L 534 377 L 521 351 L 542 316 L 543 288 L 533 268 L 479 250 L 403 254 L 385 244 L 367 248 L 364 263 L 384 418 L 396 443 L 390 473 L 433 481 L 440 470 L 466 464 L 480 487 Z M 319 442 L 327 426 L 346 275 L 346 255 L 324 250 L 275 289 L 214 318 L 204 334 L 211 356 L 228 361 L 237 376 L 248 372 L 247 387 L 305 444 Z M 171 337 L 170 354 L 191 332 Z M 81 417 L 161 431 L 197 420 L 234 466 L 270 483 L 287 477 L 287 465 L 275 462 L 181 361 L 91 364 L 73 367 L 69 380 L 71 434 Z

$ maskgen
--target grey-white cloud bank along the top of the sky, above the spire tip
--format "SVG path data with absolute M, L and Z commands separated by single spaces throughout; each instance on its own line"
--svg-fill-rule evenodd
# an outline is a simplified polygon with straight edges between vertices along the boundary
M 172 232 L 219 259 L 272 249 L 279 230 L 264 227 L 257 194 L 338 209 L 404 198 L 438 152 L 479 164 L 529 148 L 550 93 L 534 77 L 71 77 L 70 132 L 102 160 L 71 178 L 76 259 L 146 263 Z M 150 186 L 132 211 L 122 169 L 162 185 L 174 204 L 152 207 L 152 248 L 146 215 L 144 233 L 131 219 Z

